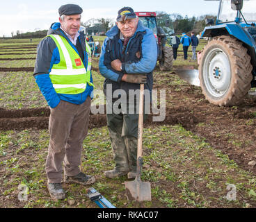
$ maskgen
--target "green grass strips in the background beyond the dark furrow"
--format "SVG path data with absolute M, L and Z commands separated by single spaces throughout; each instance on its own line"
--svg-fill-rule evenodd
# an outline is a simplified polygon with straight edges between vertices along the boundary
M 104 41 L 104 36 L 94 36 L 95 41 L 99 41 L 102 45 Z M 0 40 L 1 46 L 19 46 L 22 44 L 27 44 L 28 46 L 35 45 L 40 42 L 40 39 L 35 39 L 31 43 L 30 40 Z M 202 44 L 198 46 L 198 50 L 202 48 Z M 17 49 L 19 50 L 19 49 Z M 182 45 L 179 46 L 179 50 L 182 50 Z M 8 50 L 8 51 L 11 51 Z M 25 52 L 30 52 L 31 49 Z M 19 51 L 22 53 L 22 51 Z M 13 53 L 13 51 L 12 51 Z M 1 53 L 0 53 L 1 54 Z M 183 53 L 179 53 L 180 56 Z M 189 57 L 191 57 L 191 52 L 189 52 Z M 33 67 L 35 65 L 35 55 L 0 55 L 0 58 L 34 58 L 31 60 L 2 60 L 0 61 L 0 67 L 15 68 L 15 67 Z M 93 67 L 98 67 L 99 58 L 93 58 Z M 194 65 L 197 66 L 196 61 L 186 60 L 179 58 L 173 62 L 174 66 L 180 65 Z M 93 82 L 95 85 L 95 99 L 93 100 L 93 105 L 104 104 L 104 95 L 102 93 L 104 77 L 97 71 L 92 71 Z M 155 71 L 154 76 L 160 76 L 162 73 Z M 166 76 L 168 73 L 166 72 Z M 3 108 L 19 109 L 19 108 L 38 108 L 40 106 L 45 107 L 47 103 L 43 98 L 42 94 L 38 90 L 38 86 L 35 84 L 33 74 L 31 72 L 8 72 L 0 73 L 1 83 L 0 83 L 0 106 Z M 160 78 L 159 81 L 164 80 Z M 169 82 L 170 85 L 180 85 L 184 84 L 184 81 L 176 78 L 174 81 Z M 176 89 L 180 90 L 180 89 Z M 97 96 L 99 94 L 99 97 Z

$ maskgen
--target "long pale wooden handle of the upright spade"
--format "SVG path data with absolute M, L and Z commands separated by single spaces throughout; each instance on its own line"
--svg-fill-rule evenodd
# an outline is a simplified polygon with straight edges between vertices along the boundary
M 140 101 L 138 110 L 138 157 L 142 157 L 142 135 L 143 135 L 143 105 L 144 105 L 144 84 L 141 84 Z

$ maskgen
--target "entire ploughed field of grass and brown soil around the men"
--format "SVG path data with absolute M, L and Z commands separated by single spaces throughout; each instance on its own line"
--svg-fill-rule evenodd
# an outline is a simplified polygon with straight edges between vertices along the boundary
M 104 37 L 95 40 L 102 45 Z M 49 198 L 45 159 L 50 112 L 33 78 L 39 41 L 0 41 L 0 207 L 97 207 L 86 197 L 89 187 L 82 185 L 64 184 L 65 200 Z M 200 40 L 198 50 L 206 43 Z M 151 202 L 127 200 L 126 176 L 104 178 L 103 172 L 114 167 L 106 112 L 90 115 L 83 171 L 96 177 L 93 187 L 116 207 L 256 207 L 255 99 L 231 108 L 209 104 L 200 87 L 175 75 L 178 67 L 198 68 L 190 58 L 191 48 L 185 61 L 180 46 L 173 71 L 160 71 L 158 65 L 154 70 L 159 101 L 160 90 L 166 90 L 166 117 L 156 122 L 150 114 L 143 131 L 142 180 L 151 182 Z M 101 94 L 98 61 L 93 59 L 93 79 Z M 92 110 L 97 108 L 104 110 L 98 96 Z M 20 185 L 29 190 L 23 200 Z

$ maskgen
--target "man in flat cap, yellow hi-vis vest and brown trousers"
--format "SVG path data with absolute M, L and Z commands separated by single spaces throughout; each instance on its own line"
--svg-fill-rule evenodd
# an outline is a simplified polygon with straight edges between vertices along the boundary
M 84 33 L 79 32 L 83 10 L 67 4 L 58 12 L 60 23 L 52 24 L 38 44 L 34 69 L 35 81 L 51 109 L 45 170 L 49 194 L 56 200 L 65 198 L 62 164 L 64 182 L 95 182 L 94 176 L 79 169 L 93 95 L 91 50 Z

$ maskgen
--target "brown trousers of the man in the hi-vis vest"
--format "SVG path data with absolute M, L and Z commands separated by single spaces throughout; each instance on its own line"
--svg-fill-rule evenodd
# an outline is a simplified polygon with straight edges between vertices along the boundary
M 75 176 L 81 162 L 83 139 L 88 133 L 91 99 L 80 105 L 61 101 L 51 109 L 49 148 L 45 165 L 49 183 L 61 183 L 63 167 L 66 176 Z

